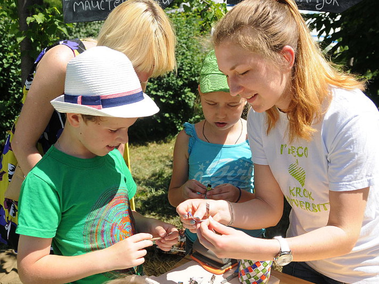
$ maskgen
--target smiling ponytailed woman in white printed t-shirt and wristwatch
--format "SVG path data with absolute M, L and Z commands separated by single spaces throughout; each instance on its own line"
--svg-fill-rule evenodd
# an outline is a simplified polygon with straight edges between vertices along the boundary
M 177 207 L 183 225 L 218 257 L 274 259 L 314 283 L 379 283 L 379 112 L 363 84 L 324 59 L 293 0 L 244 0 L 213 43 L 230 94 L 252 106 L 255 199 L 210 200 L 201 225 L 187 212 L 202 218 L 205 201 L 186 200 Z M 222 225 L 274 226 L 284 198 L 287 236 L 258 239 Z

